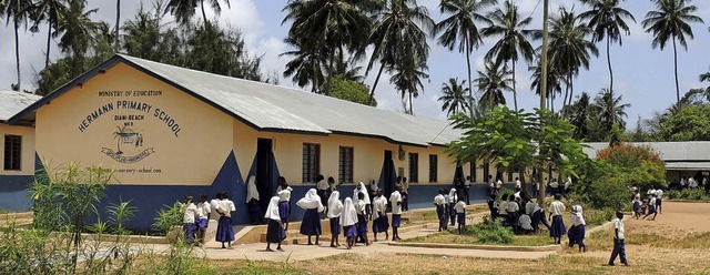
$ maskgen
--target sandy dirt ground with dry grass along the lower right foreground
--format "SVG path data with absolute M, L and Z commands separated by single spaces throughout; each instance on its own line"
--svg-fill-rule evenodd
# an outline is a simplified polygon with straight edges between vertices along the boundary
M 565 248 L 561 255 L 538 259 L 347 253 L 288 264 L 213 263 L 219 273 L 225 274 L 710 274 L 710 204 L 665 202 L 663 213 L 656 221 L 625 220 L 630 266 L 607 266 L 612 246 L 610 231 L 588 237 L 587 253 Z

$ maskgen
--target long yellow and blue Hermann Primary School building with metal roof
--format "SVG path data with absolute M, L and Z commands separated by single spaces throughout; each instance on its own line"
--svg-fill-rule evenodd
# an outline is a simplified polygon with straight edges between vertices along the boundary
M 69 162 L 114 169 L 102 203 L 130 200 L 140 210 L 134 228 L 149 228 L 156 210 L 185 195 L 217 192 L 235 202 L 234 223 L 247 223 L 251 176 L 264 206 L 284 176 L 294 187 L 292 220 L 300 220 L 295 201 L 318 174 L 343 183 L 345 196 L 372 180 L 389 194 L 406 176 L 414 208 L 430 206 L 457 172 L 479 182 L 489 173 L 469 163 L 457 170 L 443 153 L 460 135 L 447 121 L 120 54 L 11 115 L 0 131 L 28 136 L 18 174 L 32 175 L 34 151 L 50 170 Z M 484 187 L 471 193 L 483 196 Z

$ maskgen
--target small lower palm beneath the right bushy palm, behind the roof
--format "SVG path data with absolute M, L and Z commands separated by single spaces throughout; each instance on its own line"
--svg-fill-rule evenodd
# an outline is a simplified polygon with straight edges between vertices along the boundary
M 424 83 L 422 80 L 428 79 L 426 73 L 428 67 L 426 60 L 417 57 L 412 49 L 403 49 L 404 57 L 395 63 L 395 74 L 389 79 L 389 83 L 394 84 L 402 93 L 402 99 L 408 95 L 409 108 L 405 109 L 408 114 L 414 114 L 414 104 L 412 98 L 419 95 L 419 89 L 424 92 Z

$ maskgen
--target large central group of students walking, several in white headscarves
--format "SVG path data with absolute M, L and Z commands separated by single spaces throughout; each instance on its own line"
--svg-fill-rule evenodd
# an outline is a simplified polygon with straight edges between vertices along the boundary
M 353 196 L 345 197 L 344 201 L 341 201 L 337 186 L 333 186 L 333 189 L 328 191 L 328 198 L 325 203 L 322 201 L 323 193 L 316 189 L 308 190 L 305 196 L 296 202 L 298 207 L 305 210 L 298 232 L 308 236 L 308 245 L 320 245 L 320 236 L 323 234 L 321 214 L 324 214 L 329 222 L 331 247 L 341 246 L 341 233 L 345 237 L 345 246 L 348 249 L 356 243 L 369 245 L 371 242 L 367 240 L 369 221 L 373 221 L 372 228 L 375 242 L 377 242 L 378 233 L 385 233 L 385 240 L 389 238 L 390 225 L 393 228 L 392 240 L 400 240 L 397 231 L 402 225 L 404 201 L 400 186 L 392 192 L 388 198 L 384 196 L 382 190 L 378 190 L 371 200 L 367 187 L 363 182 L 359 182 L 353 191 Z M 266 211 L 265 217 L 270 220 L 266 230 L 266 251 L 272 251 L 272 243 L 276 243 L 278 245 L 276 249 L 281 249 L 281 242 L 286 238 L 290 206 L 287 206 L 287 200 L 283 201 L 286 198 L 285 193 L 288 193 L 290 198 L 291 187 L 283 181 L 277 195 L 272 197 Z M 392 204 L 392 223 L 387 216 L 388 203 Z M 313 236 L 315 236 L 315 242 L 312 240 Z

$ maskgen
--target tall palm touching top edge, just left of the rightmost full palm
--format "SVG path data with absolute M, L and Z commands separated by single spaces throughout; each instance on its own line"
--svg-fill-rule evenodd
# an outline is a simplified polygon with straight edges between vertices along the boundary
M 633 18 L 633 14 L 631 14 L 631 12 L 619 7 L 619 4 L 623 0 L 579 1 L 591 8 L 591 10 L 585 11 L 579 14 L 580 19 L 588 20 L 587 27 L 591 28 L 594 31 L 591 41 L 596 43 L 605 40 L 605 38 L 607 39 L 609 91 L 613 93 L 613 71 L 611 70 L 611 53 L 609 52 L 609 47 L 611 42 L 619 42 L 619 45 L 622 45 L 621 31 L 623 31 L 627 35 L 631 33 L 629 31 L 629 26 L 623 20 L 630 19 L 631 21 L 636 22 L 636 19 Z

